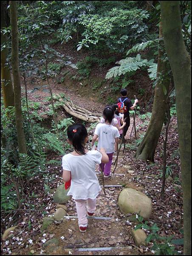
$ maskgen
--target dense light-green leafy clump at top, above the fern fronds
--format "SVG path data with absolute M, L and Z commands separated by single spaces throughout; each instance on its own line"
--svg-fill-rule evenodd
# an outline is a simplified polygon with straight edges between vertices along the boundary
M 130 9 L 121 3 L 121 6 L 112 7 L 106 12 L 82 15 L 79 24 L 94 35 L 102 37 L 104 47 L 124 52 L 128 44 L 135 44 L 147 32 L 147 25 L 144 23 L 147 17 L 147 11 L 134 7 Z

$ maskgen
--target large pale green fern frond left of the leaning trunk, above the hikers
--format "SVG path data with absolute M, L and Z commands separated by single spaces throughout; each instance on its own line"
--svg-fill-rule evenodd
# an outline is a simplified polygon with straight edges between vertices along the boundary
M 141 59 L 141 55 L 137 54 L 136 57 L 129 57 L 126 59 L 122 59 L 116 64 L 120 64 L 120 66 L 112 67 L 106 74 L 105 79 L 110 79 L 112 77 L 121 76 L 125 73 L 129 73 L 132 71 L 138 70 L 140 67 L 147 66 L 147 59 Z

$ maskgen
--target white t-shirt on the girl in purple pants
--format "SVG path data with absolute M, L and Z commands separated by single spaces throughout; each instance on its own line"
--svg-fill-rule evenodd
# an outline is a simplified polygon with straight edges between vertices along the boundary
M 96 126 L 94 134 L 98 135 L 98 150 L 104 148 L 107 154 L 114 152 L 114 139 L 119 138 L 120 134 L 113 125 L 99 123 Z

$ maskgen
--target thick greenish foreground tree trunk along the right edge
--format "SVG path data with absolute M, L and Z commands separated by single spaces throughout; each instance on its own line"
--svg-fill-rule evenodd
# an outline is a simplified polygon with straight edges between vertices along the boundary
M 191 255 L 191 67 L 179 1 L 161 1 L 164 43 L 175 83 L 184 202 L 184 255 Z

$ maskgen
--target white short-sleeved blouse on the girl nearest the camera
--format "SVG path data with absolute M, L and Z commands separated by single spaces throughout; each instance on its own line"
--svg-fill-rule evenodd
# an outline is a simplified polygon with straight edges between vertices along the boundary
M 95 165 L 101 163 L 102 154 L 97 150 L 88 151 L 85 155 L 62 157 L 62 168 L 71 172 L 71 187 L 68 195 L 73 199 L 95 199 L 101 187 L 96 176 Z

